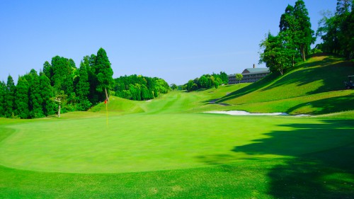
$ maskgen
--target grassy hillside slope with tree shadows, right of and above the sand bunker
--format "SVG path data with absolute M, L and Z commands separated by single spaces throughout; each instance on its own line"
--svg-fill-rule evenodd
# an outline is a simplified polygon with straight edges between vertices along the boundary
M 217 103 L 232 105 L 227 109 L 252 112 L 321 114 L 354 110 L 354 90 L 345 90 L 343 84 L 350 74 L 354 74 L 353 62 L 312 57 L 283 76 L 270 74 Z

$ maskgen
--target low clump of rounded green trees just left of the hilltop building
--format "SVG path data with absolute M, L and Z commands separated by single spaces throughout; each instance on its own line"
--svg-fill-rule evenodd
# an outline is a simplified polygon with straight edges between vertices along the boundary
M 215 87 L 216 89 L 219 85 L 228 84 L 229 77 L 225 72 L 220 72 L 219 74 L 203 74 L 199 78 L 190 79 L 188 83 L 182 86 L 183 90 L 196 91 L 198 89 L 211 89 Z

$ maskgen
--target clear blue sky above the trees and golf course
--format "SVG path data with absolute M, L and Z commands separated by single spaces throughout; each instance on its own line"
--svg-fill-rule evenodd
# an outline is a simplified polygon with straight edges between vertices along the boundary
M 278 33 L 296 0 L 0 0 L 0 81 L 42 69 L 56 55 L 79 67 L 103 47 L 113 77 L 157 76 L 184 84 L 202 74 L 258 65 L 259 43 Z M 336 0 L 304 0 L 312 29 Z M 258 66 L 264 67 L 264 66 Z

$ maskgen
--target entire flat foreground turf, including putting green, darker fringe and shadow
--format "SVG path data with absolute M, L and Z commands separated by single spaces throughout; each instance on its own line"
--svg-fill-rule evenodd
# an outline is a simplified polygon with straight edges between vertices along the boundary
M 137 127 L 137 120 L 144 123 Z M 1 194 L 4 198 L 350 198 L 353 124 L 329 117 L 145 113 L 110 118 L 115 126 L 108 127 L 109 132 L 104 118 L 0 125 L 1 130 L 13 130 L 0 146 L 1 164 L 13 164 L 0 167 Z M 87 174 L 96 172 L 110 174 Z

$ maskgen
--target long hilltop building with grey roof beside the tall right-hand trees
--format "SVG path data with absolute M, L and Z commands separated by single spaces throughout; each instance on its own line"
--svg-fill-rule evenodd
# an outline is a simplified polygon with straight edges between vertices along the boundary
M 244 77 L 241 79 L 240 83 L 253 83 L 269 73 L 268 68 L 256 68 L 253 64 L 253 68 L 244 69 L 244 72 L 241 73 Z M 239 80 L 236 79 L 236 74 L 229 75 L 229 84 L 239 84 Z

